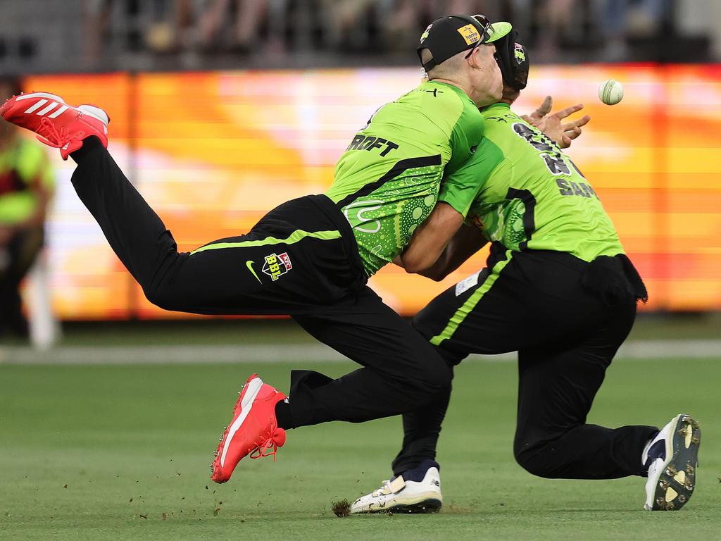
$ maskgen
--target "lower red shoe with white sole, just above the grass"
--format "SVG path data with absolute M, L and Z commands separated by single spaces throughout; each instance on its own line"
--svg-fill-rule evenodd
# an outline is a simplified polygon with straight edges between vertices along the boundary
M 213 481 L 229 480 L 240 459 L 247 454 L 251 458 L 272 454 L 275 461 L 278 447 L 286 443 L 286 431 L 278 427 L 275 419 L 275 405 L 285 399 L 286 395 L 263 383 L 257 374 L 248 378 L 233 410 L 233 421 L 218 444 L 211 466 Z

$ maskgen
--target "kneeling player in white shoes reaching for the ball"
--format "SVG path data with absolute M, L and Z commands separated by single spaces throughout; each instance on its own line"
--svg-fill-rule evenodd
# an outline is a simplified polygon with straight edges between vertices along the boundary
M 477 180 L 466 224 L 420 273 L 440 280 L 490 242 L 487 268 L 433 299 L 413 325 L 449 366 L 469 353 L 518 351 L 513 452 L 528 472 L 565 479 L 639 475 L 647 478 L 645 509 L 680 509 L 694 491 L 700 431 L 693 418 L 681 413 L 660 430 L 586 423 L 606 368 L 631 330 L 637 299 L 647 294 L 596 191 L 557 143 L 570 144 L 584 120 L 557 123 L 549 137 L 510 110 L 525 87 L 526 77 L 518 76 L 523 63 L 528 73 L 526 52 L 514 38 L 497 42 L 503 100 L 482 109 L 485 139 L 449 179 Z M 442 188 L 439 200 L 456 197 Z M 413 259 L 420 256 L 409 254 L 422 236 L 421 230 L 412 239 L 404 262 L 418 266 Z M 352 512 L 440 509 L 435 447 L 450 395 L 448 385 L 444 395 L 403 415 L 394 476 L 358 498 Z

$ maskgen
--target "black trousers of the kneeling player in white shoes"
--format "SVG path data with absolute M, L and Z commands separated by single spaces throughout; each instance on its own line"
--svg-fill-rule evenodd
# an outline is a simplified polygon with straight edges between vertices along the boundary
M 488 267 L 433 299 L 413 325 L 451 366 L 469 353 L 518 351 L 513 452 L 528 472 L 573 479 L 646 475 L 642 450 L 658 428 L 586 423 L 631 330 L 637 299 L 645 296 L 625 255 L 589 264 L 567 253 L 510 252 L 495 243 Z M 396 475 L 435 458 L 450 394 L 449 385 L 433 403 L 404 415 Z

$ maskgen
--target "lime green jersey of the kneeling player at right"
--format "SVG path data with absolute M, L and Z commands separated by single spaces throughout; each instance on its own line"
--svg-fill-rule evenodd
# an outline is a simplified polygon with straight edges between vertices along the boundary
M 466 223 L 508 250 L 555 250 L 589 262 L 624 253 L 596 192 L 553 141 L 504 103 L 483 116 L 483 143 L 449 179 L 477 181 Z M 439 199 L 454 204 L 456 196 L 441 190 Z

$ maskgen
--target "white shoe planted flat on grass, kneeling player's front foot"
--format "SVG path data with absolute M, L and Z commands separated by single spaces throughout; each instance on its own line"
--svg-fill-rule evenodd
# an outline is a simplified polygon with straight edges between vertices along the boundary
M 383 482 L 381 488 L 361 496 L 350 506 L 351 513 L 432 513 L 443 505 L 441 475 L 433 461 Z M 424 466 L 425 464 L 422 464 Z M 423 473 L 425 469 L 425 474 Z M 419 471 L 420 470 L 420 471 Z M 415 474 L 415 475 L 414 475 Z M 404 476 L 408 479 L 404 479 Z M 416 480 L 412 480 L 412 478 Z

